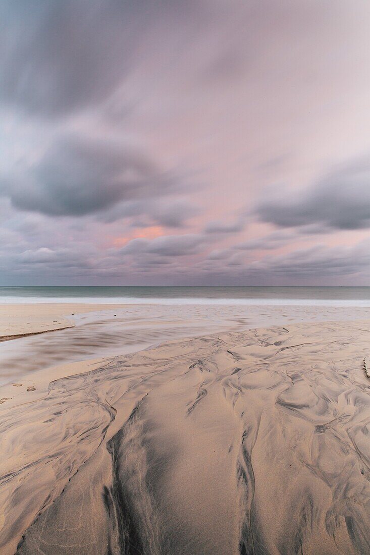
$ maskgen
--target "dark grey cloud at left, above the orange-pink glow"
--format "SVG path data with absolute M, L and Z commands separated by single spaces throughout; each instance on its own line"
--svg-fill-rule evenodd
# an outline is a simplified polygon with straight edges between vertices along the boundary
M 168 176 L 142 154 L 68 137 L 54 144 L 38 163 L 23 168 L 20 176 L 8 178 L 0 191 L 21 210 L 81 216 L 142 198 L 144 210 L 148 199 L 175 189 Z

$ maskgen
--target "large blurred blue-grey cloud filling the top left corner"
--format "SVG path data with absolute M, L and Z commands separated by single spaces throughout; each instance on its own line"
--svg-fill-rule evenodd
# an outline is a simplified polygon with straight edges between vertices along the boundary
M 133 63 L 143 19 L 135 4 L 3 2 L 2 99 L 43 117 L 102 102 Z

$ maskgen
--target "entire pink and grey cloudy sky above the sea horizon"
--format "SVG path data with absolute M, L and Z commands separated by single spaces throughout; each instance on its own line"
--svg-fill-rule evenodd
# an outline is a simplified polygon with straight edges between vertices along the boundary
M 0 285 L 370 285 L 368 0 L 2 0 Z

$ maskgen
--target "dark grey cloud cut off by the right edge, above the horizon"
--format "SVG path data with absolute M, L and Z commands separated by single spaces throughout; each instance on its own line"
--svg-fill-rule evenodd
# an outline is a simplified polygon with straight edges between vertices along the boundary
M 370 163 L 334 171 L 299 197 L 281 197 L 259 203 L 259 219 L 281 227 L 317 224 L 316 231 L 370 228 Z

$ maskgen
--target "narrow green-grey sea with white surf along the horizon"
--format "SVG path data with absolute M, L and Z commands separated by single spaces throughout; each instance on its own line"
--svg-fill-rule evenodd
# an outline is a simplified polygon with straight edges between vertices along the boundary
M 0 287 L 0 302 L 370 306 L 370 287 Z

